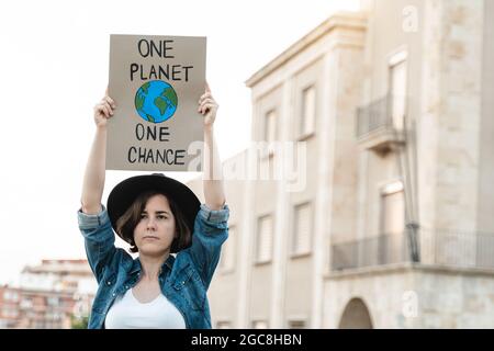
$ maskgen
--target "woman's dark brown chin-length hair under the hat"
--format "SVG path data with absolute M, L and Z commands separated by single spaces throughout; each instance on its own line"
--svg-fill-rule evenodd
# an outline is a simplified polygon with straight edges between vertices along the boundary
M 192 241 L 192 234 L 187 225 L 186 217 L 175 201 L 159 191 L 148 191 L 142 193 L 125 213 L 116 220 L 116 233 L 131 245 L 131 252 L 138 252 L 134 241 L 134 229 L 141 222 L 141 214 L 146 207 L 147 201 L 155 195 L 164 195 L 170 204 L 171 214 L 175 217 L 175 230 L 177 236 L 171 242 L 170 253 L 176 253 L 187 249 Z

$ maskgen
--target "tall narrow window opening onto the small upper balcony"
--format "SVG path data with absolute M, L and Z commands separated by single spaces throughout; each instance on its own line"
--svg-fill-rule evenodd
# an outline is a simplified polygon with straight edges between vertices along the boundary
M 393 127 L 402 131 L 406 113 L 406 53 L 390 60 L 390 93 Z

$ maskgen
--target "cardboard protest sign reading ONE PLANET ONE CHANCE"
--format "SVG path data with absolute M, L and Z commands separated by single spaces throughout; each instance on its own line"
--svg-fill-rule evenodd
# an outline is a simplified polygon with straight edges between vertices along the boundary
M 205 37 L 110 36 L 106 169 L 201 171 L 205 55 Z

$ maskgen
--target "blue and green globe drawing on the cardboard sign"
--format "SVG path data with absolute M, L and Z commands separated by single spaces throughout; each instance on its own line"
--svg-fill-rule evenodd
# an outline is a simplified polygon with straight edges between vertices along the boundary
M 177 93 L 162 80 L 147 81 L 135 93 L 135 110 L 147 122 L 161 123 L 171 118 L 177 104 Z

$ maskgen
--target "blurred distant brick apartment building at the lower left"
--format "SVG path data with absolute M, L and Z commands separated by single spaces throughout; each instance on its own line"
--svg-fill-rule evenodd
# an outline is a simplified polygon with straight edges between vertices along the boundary
M 89 315 L 97 285 L 86 260 L 43 260 L 0 286 L 0 328 L 66 329 Z

